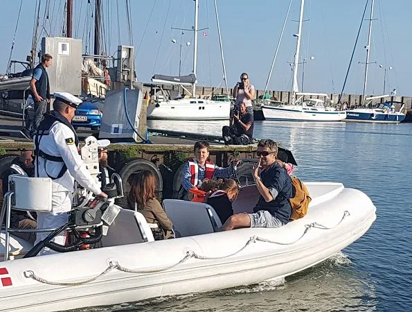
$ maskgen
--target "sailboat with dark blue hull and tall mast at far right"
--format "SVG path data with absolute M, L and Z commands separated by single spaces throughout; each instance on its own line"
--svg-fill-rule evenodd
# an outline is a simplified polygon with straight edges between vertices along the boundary
M 355 108 L 354 110 L 346 111 L 346 119 L 344 121 L 360 121 L 371 123 L 400 123 L 406 117 L 406 114 L 402 112 L 404 106 L 400 107 L 400 110 L 396 112 L 395 107 L 391 103 L 378 103 L 373 105 L 373 100 L 386 98 L 391 94 L 382 96 L 371 96 L 366 98 L 366 85 L 368 82 L 368 64 L 370 53 L 370 39 L 372 37 L 372 23 L 373 23 L 373 6 L 375 0 L 370 2 L 370 19 L 369 19 L 369 32 L 368 32 L 368 44 L 366 45 L 366 63 L 365 63 L 365 75 L 364 75 L 364 92 L 362 97 L 362 105 L 366 108 Z M 367 5 L 368 3 L 366 3 Z M 368 101 L 368 103 L 366 103 Z

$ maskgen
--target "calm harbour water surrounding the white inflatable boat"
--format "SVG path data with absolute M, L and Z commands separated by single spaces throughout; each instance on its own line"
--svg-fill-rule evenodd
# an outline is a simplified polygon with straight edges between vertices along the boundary
M 152 121 L 150 128 L 220 135 L 223 122 Z M 409 311 L 412 306 L 412 124 L 257 122 L 280 141 L 303 180 L 364 191 L 377 220 L 323 263 L 271 283 L 88 311 Z

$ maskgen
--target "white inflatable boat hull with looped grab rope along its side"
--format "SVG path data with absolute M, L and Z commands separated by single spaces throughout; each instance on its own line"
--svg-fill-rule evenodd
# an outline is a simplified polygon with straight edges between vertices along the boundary
M 313 196 L 309 213 L 278 229 L 236 229 L 0 263 L 8 272 L 0 277 L 12 282 L 0 284 L 0 311 L 46 312 L 136 302 L 292 275 L 346 248 L 376 218 L 375 206 L 361 191 L 339 183 L 307 183 L 307 187 Z M 256 199 L 251 187 L 242 189 L 238 201 L 242 199 Z M 179 263 L 188 253 L 215 259 L 190 257 L 168 270 L 146 274 L 113 268 L 78 286 L 54 286 L 24 276 L 32 271 L 47 281 L 78 282 L 100 275 L 110 263 L 133 270 L 161 269 Z

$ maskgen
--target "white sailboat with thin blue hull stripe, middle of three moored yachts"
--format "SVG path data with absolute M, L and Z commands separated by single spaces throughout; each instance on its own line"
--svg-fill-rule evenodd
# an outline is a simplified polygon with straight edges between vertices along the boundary
M 295 35 L 296 53 L 294 60 L 292 105 L 262 105 L 263 116 L 265 116 L 265 120 L 274 121 L 341 121 L 346 118 L 346 112 L 337 111 L 334 107 L 325 105 L 325 102 L 319 98 L 305 98 L 305 96 L 323 96 L 328 99 L 327 94 L 299 93 L 298 62 L 301 49 L 304 7 L 305 0 L 301 0 L 298 33 Z

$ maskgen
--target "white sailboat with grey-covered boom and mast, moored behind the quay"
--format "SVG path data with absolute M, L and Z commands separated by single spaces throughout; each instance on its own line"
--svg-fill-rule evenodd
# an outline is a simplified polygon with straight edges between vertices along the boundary
M 216 8 L 216 6 L 215 6 Z M 217 10 L 216 10 L 217 13 Z M 147 107 L 147 119 L 173 119 L 173 120 L 221 120 L 229 119 L 231 102 L 213 101 L 206 98 L 196 98 L 196 67 L 197 67 L 197 33 L 199 28 L 197 20 L 199 16 L 199 1 L 195 0 L 195 44 L 193 44 L 193 72 L 188 76 L 165 76 L 154 75 L 152 83 L 164 85 L 180 85 L 183 88 L 192 86 L 190 98 L 171 99 L 162 95 L 154 96 L 153 103 Z M 218 26 L 219 28 L 219 26 Z M 221 44 L 222 50 L 222 44 Z M 222 62 L 223 53 L 222 53 Z M 226 80 L 226 71 L 224 70 L 224 80 Z

